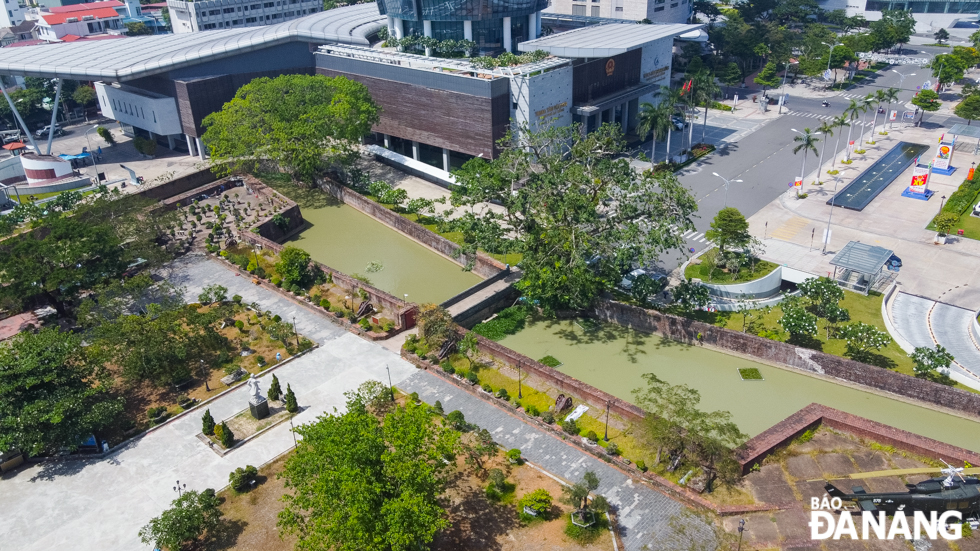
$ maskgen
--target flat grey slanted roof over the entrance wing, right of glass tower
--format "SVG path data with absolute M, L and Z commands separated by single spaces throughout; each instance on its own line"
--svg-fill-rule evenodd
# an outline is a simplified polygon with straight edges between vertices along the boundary
M 518 44 L 522 52 L 544 50 L 558 57 L 609 57 L 663 38 L 697 31 L 703 25 L 612 23 L 583 27 Z

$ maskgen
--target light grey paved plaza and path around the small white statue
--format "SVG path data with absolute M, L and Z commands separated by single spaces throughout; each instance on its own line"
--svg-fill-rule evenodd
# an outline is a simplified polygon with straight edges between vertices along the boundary
M 209 283 L 221 283 L 229 295 L 257 302 L 285 319 L 296 318 L 299 331 L 320 347 L 275 371 L 283 387 L 291 384 L 305 408 L 296 424 L 312 422 L 345 403 L 343 393 L 370 379 L 395 384 L 416 369 L 397 355 L 365 341 L 279 295 L 232 275 L 222 264 L 203 257 L 174 263 L 167 275 L 186 285 L 189 300 Z M 260 379 L 263 391 L 269 376 Z M 215 419 L 247 407 L 241 387 L 207 406 Z M 141 526 L 160 514 L 176 497 L 175 481 L 189 490 L 221 488 L 228 473 L 245 465 L 261 465 L 293 445 L 289 424 L 271 429 L 225 457 L 196 438 L 200 416 L 195 411 L 123 446 L 103 460 L 42 463 L 22 468 L 0 480 L 5 504 L 0 515 L 0 549 L 148 549 L 139 542 Z

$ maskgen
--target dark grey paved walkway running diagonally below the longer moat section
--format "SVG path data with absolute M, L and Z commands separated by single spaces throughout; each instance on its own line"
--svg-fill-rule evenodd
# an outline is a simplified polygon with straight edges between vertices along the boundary
M 619 508 L 620 536 L 627 551 L 688 548 L 687 542 L 672 537 L 668 526 L 684 506 L 664 494 L 427 371 L 416 372 L 398 387 L 418 392 L 428 404 L 441 401 L 447 412 L 458 409 L 467 421 L 489 430 L 499 444 L 520 448 L 529 461 L 569 482 L 578 482 L 586 471 L 594 471 L 600 479 L 598 493 Z M 710 537 L 703 525 L 692 528 L 691 533 L 698 537 Z

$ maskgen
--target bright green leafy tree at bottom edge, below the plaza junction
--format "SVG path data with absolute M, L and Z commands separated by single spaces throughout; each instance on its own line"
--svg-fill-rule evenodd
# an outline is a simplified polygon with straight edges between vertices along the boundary
M 347 397 L 344 413 L 297 427 L 303 438 L 280 475 L 280 530 L 298 536 L 297 549 L 427 547 L 449 526 L 439 496 L 459 433 L 438 426 L 424 406 L 395 408 L 382 421 L 364 397 Z

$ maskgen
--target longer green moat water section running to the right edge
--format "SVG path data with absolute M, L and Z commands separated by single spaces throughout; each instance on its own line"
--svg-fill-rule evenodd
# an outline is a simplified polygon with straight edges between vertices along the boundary
M 730 411 L 750 436 L 817 402 L 980 451 L 978 422 L 618 325 L 586 325 L 588 331 L 574 321 L 536 321 L 501 344 L 534 359 L 554 356 L 563 373 L 628 401 L 644 373 L 688 385 L 701 393 L 702 409 Z M 750 367 L 765 380 L 741 380 L 738 369 Z

